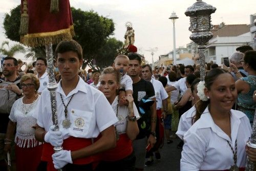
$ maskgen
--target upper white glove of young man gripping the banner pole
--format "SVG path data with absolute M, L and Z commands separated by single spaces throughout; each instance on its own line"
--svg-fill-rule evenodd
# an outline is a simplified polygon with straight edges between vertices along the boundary
M 52 146 L 61 146 L 63 143 L 63 137 L 60 131 L 54 131 L 54 125 L 50 127 L 50 130 L 45 135 L 45 142 L 50 143 Z

